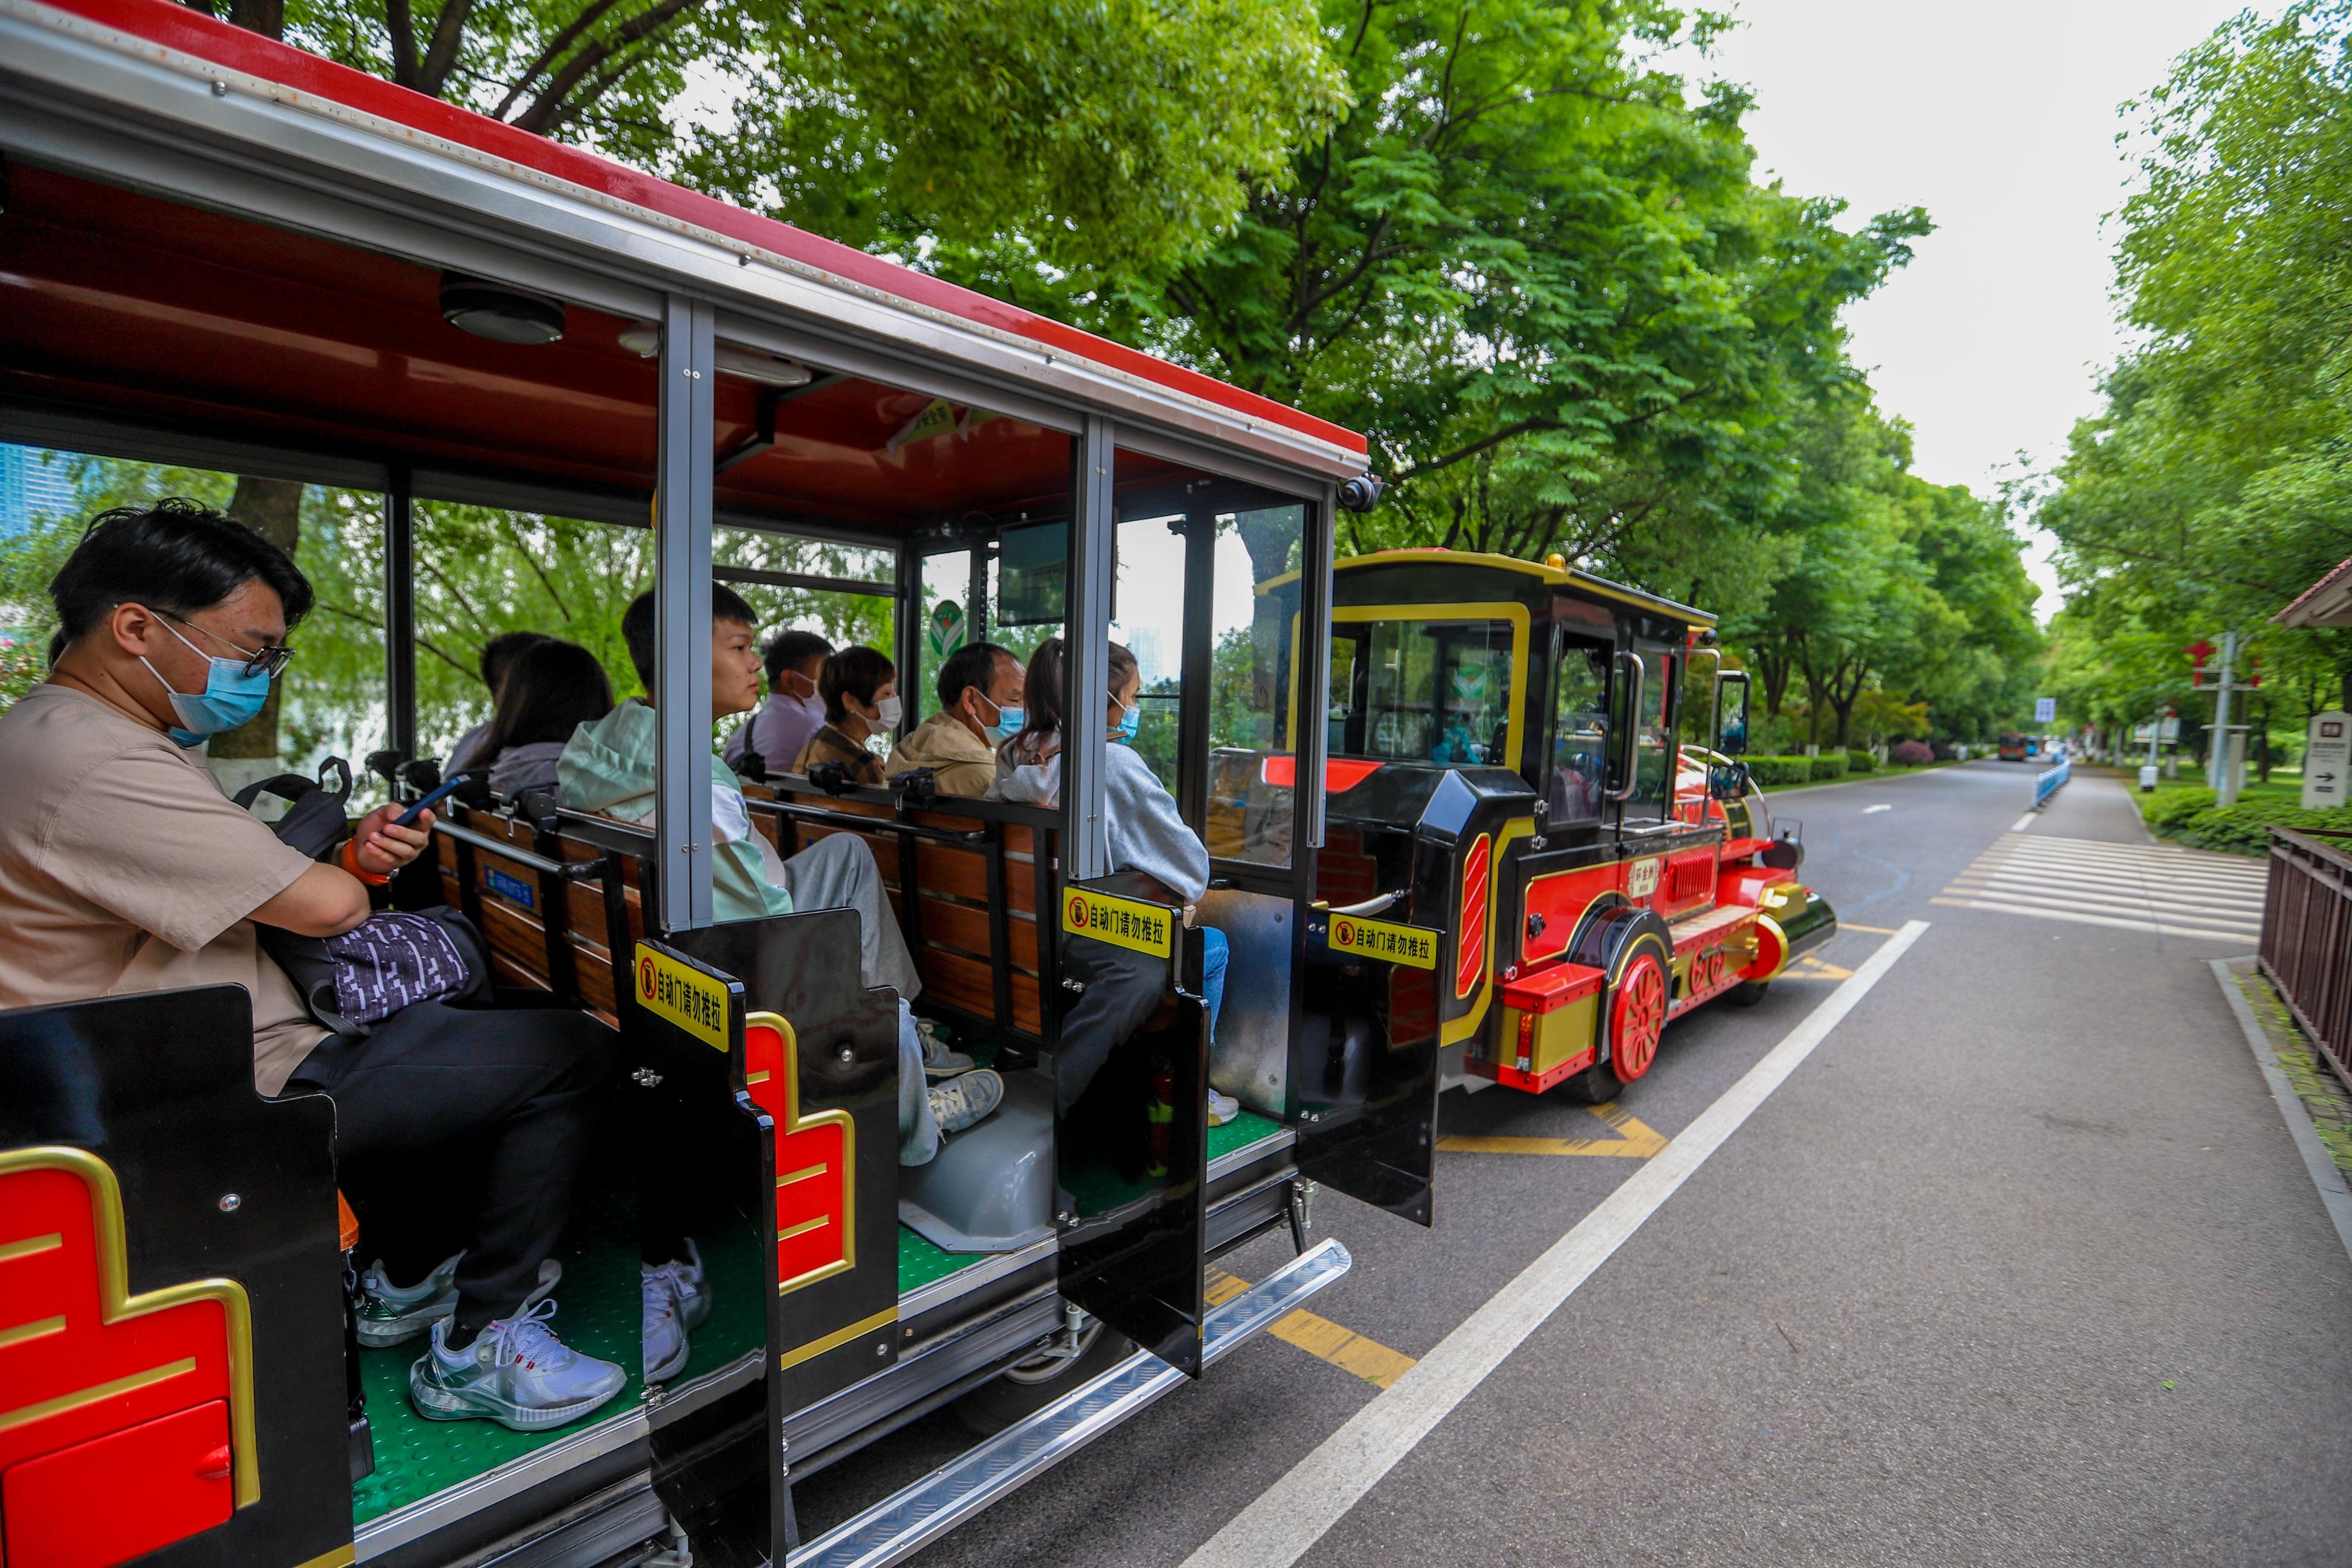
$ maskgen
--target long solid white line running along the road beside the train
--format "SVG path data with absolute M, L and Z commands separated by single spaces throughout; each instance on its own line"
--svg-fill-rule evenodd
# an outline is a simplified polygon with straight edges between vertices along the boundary
M 1635 1171 L 1602 1204 L 1496 1291 L 1484 1307 L 1437 1342 L 1371 1403 L 1348 1418 L 1315 1453 L 1258 1493 L 1185 1559 L 1185 1568 L 1289 1568 L 1348 1516 L 1381 1476 L 1395 1469 L 1454 1406 L 1468 1399 L 1526 1335 L 1536 1333 L 1592 1272 L 1609 1262 L 1698 1166 L 1755 1114 L 1788 1074 L 1830 1037 L 1889 969 L 1926 931 L 1924 919 L 1879 943 L 1851 980 L 1839 983 L 1804 1023 L 1780 1037 L 1748 1074 L 1703 1110 L 1665 1152 Z

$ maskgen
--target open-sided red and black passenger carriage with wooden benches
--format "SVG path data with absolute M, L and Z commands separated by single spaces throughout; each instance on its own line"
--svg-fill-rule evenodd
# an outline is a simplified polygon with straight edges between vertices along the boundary
M 254 1093 L 242 992 L 0 1013 L 7 1568 L 898 1561 L 1341 1276 L 1317 1185 L 1428 1220 L 1428 1074 L 1322 1091 L 1362 1051 L 1305 936 L 1362 437 L 165 0 L 0 7 L 0 440 L 381 496 L 402 792 L 430 783 L 421 512 L 642 531 L 661 628 L 652 820 L 461 804 L 393 889 L 473 917 L 501 1004 L 619 1041 L 557 1262 L 567 1333 L 626 1392 L 548 1432 L 416 1418 L 414 1347 L 360 1349 L 346 1314 L 369 1215 L 339 1199 L 334 1105 Z M 729 564 L 774 538 L 873 567 Z M 887 599 L 913 689 L 943 597 L 969 637 L 1063 635 L 1075 691 L 1108 686 L 1112 635 L 1162 672 L 1141 741 L 1211 851 L 1190 910 L 1110 863 L 1089 703 L 1051 809 L 746 790 L 783 853 L 868 842 L 920 1011 L 1002 1065 L 1007 1105 L 934 1166 L 894 1159 L 896 1004 L 856 978 L 856 914 L 715 919 L 713 576 Z M 1296 642 L 1263 635 L 1272 604 Z M 1221 675 L 1240 698 L 1211 703 Z M 1218 1060 L 1261 1070 L 1225 1126 L 1204 926 L 1232 947 Z M 1044 1077 L 1075 943 L 1169 978 L 1084 1126 Z M 715 1309 L 647 1382 L 654 1180 L 699 1206 Z M 1204 1262 L 1268 1232 L 1296 1255 L 1211 1298 Z M 950 1403 L 995 1434 L 800 1537 L 795 1479 Z

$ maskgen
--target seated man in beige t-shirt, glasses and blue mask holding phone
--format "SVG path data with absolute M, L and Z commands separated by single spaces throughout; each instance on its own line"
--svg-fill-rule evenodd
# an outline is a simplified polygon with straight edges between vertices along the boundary
M 365 1345 L 430 1335 L 409 1373 L 416 1408 L 534 1429 L 602 1406 L 628 1373 L 555 1338 L 541 1262 L 614 1074 L 612 1034 L 572 1011 L 419 1001 L 336 1037 L 256 940 L 254 922 L 353 931 L 369 886 L 433 827 L 430 813 L 400 827 L 400 806 L 379 806 L 334 865 L 318 863 L 191 752 L 261 712 L 310 583 L 252 529 L 162 501 L 92 522 L 49 597 L 66 649 L 0 715 L 0 1006 L 245 987 L 254 1088 L 334 1095 L 336 1180 L 365 1211 L 372 1185 L 390 1201 L 426 1166 L 459 1194 L 456 1211 L 426 1215 L 430 1251 L 360 1284 Z

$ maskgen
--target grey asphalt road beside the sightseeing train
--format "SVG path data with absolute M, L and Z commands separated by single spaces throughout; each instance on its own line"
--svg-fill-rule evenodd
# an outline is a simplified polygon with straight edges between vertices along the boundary
M 1446 1095 L 1449 1135 L 1653 1150 L 1886 940 L 1858 926 L 1931 922 L 1298 1561 L 2352 1563 L 2352 1265 L 2209 969 L 2251 943 L 2114 896 L 2150 853 L 2173 889 L 2201 865 L 2150 851 L 2122 785 L 2077 776 L 2013 835 L 2027 804 L 2018 764 L 1773 797 L 1846 922 L 1806 976 L 1677 1023 L 1618 1133 Z M 2082 917 L 2063 867 L 1952 898 L 2018 839 L 2091 867 Z M 1423 1356 L 1637 1168 L 1439 1154 L 1435 1229 L 1327 1194 L 1355 1269 L 1312 1307 Z M 1261 1338 L 915 1561 L 1183 1563 L 1376 1396 Z M 814 1476 L 804 1528 L 967 1441 L 931 1418 Z

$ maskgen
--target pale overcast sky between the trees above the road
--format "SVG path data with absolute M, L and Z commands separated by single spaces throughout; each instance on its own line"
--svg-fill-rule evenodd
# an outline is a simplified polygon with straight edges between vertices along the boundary
M 1738 0 L 1715 75 L 1757 94 L 1762 169 L 1936 233 L 1858 306 L 1853 357 L 1912 423 L 1915 470 L 1992 494 L 2065 451 L 2122 334 L 2103 216 L 2131 179 L 2117 106 L 2239 7 L 2220 0 Z M 2049 571 L 2034 550 L 2034 576 Z M 2056 597 L 2044 592 L 2042 614 Z

